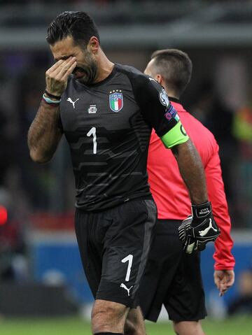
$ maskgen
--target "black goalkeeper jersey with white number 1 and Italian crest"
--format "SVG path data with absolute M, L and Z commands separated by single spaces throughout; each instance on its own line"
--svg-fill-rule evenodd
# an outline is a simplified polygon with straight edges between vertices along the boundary
M 151 197 L 151 129 L 162 136 L 178 122 L 176 112 L 167 114 L 168 104 L 165 90 L 131 66 L 115 64 L 109 77 L 88 86 L 70 76 L 60 119 L 71 149 L 77 208 L 102 211 Z

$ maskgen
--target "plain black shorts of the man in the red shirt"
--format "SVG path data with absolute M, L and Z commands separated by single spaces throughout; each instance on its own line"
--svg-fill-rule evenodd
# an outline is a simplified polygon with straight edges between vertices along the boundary
M 139 289 L 144 317 L 156 322 L 162 304 L 169 319 L 197 321 L 207 315 L 200 253 L 188 255 L 179 240 L 179 220 L 158 220 L 146 271 Z

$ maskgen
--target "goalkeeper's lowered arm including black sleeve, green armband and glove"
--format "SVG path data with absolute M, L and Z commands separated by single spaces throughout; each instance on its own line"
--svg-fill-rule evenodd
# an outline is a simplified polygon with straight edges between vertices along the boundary
M 207 201 L 204 170 L 197 150 L 189 141 L 165 90 L 155 80 L 140 76 L 132 80 L 132 87 L 146 123 L 155 129 L 167 148 L 173 148 L 190 193 L 193 217 L 191 221 L 185 220 L 179 229 L 183 249 L 188 253 L 204 250 L 220 232 L 212 215 L 211 203 Z

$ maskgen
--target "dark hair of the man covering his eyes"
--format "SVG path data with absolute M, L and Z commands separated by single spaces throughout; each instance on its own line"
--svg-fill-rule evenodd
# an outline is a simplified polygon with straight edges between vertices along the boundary
M 50 45 L 71 36 L 76 45 L 87 46 L 92 36 L 99 40 L 94 20 L 85 12 L 64 12 L 59 14 L 48 27 L 46 41 Z

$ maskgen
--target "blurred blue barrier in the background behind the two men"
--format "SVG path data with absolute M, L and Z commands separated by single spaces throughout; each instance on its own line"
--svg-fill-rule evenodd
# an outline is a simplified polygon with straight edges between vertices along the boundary
M 249 232 L 249 235 L 252 235 L 251 232 Z M 201 257 L 202 278 L 207 301 L 210 299 L 209 294 L 211 292 L 216 292 L 216 295 L 218 295 L 213 277 L 213 253 L 214 245 L 209 244 L 206 250 L 202 252 Z M 70 234 L 67 238 L 64 237 L 62 241 L 60 234 L 57 234 L 55 238 L 50 234 L 49 238 L 44 236 L 42 238 L 38 237 L 34 241 L 31 240 L 31 255 L 35 280 L 41 282 L 48 277 L 48 273 L 53 274 L 57 271 L 57 273 L 61 273 L 69 290 L 76 297 L 76 301 L 80 304 L 85 304 L 93 300 L 80 262 L 75 236 L 73 237 Z M 238 278 L 241 271 L 251 269 L 252 241 L 236 241 L 233 255 L 235 255 L 236 259 L 235 275 Z M 237 283 L 235 283 L 228 291 L 228 294 L 225 294 L 221 299 L 223 299 L 225 304 L 229 304 L 237 294 Z

